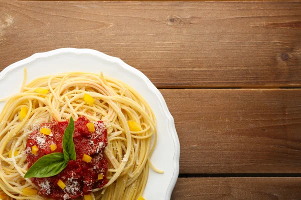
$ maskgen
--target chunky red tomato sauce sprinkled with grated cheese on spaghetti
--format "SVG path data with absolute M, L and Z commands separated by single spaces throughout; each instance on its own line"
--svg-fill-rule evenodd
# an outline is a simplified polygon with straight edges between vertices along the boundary
M 107 145 L 107 130 L 102 121 L 94 122 L 95 132 L 89 132 L 87 123 L 90 121 L 81 116 L 75 121 L 73 141 L 76 151 L 76 161 L 70 160 L 66 168 L 59 174 L 47 178 L 31 178 L 39 187 L 39 192 L 54 199 L 73 199 L 83 194 L 89 193 L 93 188 L 105 185 L 108 180 L 106 171 L 107 161 L 103 156 L 103 150 Z M 44 123 L 41 127 L 51 129 L 50 135 L 44 135 L 39 130 L 34 130 L 28 137 L 26 144 L 26 154 L 29 167 L 40 157 L 53 153 L 63 152 L 62 140 L 68 121 L 53 121 Z M 56 144 L 57 149 L 51 151 L 50 145 Z M 38 146 L 36 155 L 31 153 L 32 146 Z M 83 154 L 92 157 L 91 162 L 82 161 Z M 97 180 L 98 174 L 103 173 L 103 179 Z M 61 179 L 66 187 L 61 189 L 57 182 Z

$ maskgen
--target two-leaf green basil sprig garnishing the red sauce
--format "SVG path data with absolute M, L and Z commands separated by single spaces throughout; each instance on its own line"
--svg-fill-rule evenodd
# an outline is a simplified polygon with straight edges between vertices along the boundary
M 73 132 L 74 120 L 71 117 L 63 135 L 63 153 L 50 153 L 40 157 L 29 168 L 24 177 L 43 178 L 54 176 L 64 170 L 70 159 L 76 160 Z

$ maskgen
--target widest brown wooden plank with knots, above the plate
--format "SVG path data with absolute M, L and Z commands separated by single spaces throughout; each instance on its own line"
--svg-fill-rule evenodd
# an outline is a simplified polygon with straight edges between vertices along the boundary
M 93 48 L 156 86 L 301 86 L 301 1 L 0 1 L 0 69 Z

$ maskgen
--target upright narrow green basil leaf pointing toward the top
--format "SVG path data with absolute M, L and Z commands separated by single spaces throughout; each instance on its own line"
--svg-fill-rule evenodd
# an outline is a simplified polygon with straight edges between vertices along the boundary
M 75 152 L 75 146 L 73 142 L 73 132 L 74 132 L 74 120 L 71 117 L 63 136 L 63 152 L 65 157 L 65 162 L 68 162 L 70 159 L 76 160 L 76 152 Z

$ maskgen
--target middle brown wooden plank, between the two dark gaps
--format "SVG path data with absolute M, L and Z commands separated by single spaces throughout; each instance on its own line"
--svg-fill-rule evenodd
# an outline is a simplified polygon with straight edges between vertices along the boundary
M 300 173 L 301 89 L 162 89 L 180 173 Z

